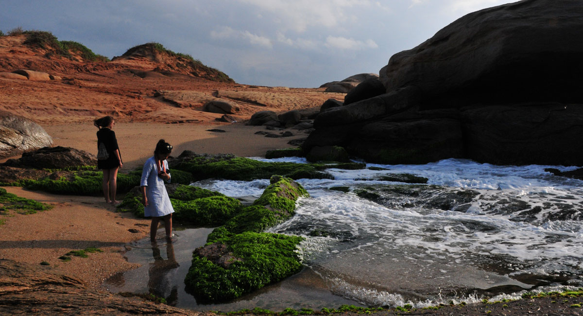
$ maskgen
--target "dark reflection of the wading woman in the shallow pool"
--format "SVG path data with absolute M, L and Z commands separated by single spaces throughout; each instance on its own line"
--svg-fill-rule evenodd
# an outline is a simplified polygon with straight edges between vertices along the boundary
M 154 262 L 148 270 L 147 287 L 150 293 L 164 297 L 166 304 L 175 306 L 178 301 L 178 285 L 175 285 L 175 274 L 178 271 L 178 262 L 174 257 L 174 244 L 166 244 L 166 257 L 160 255 L 160 248 L 152 243 L 152 256 Z

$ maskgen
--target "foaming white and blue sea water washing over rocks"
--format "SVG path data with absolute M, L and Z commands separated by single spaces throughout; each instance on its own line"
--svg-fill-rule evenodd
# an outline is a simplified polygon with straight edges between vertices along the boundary
M 305 163 L 300 158 L 265 161 Z M 547 167 L 573 169 L 448 159 L 328 169 L 334 180 L 297 180 L 310 197 L 298 199 L 296 215 L 269 231 L 305 237 L 298 252 L 306 268 L 292 282 L 317 280 L 307 287 L 327 294 L 318 295 L 312 306 L 299 297 L 304 290 L 285 297 L 298 295 L 299 306 L 307 308 L 350 302 L 424 307 L 583 286 L 583 181 L 557 177 Z M 395 173 L 429 180 L 382 181 Z M 269 180 L 194 185 L 251 201 Z M 331 190 L 336 187 L 349 192 Z M 250 308 L 278 310 L 267 296 L 248 300 Z M 294 307 L 285 303 L 282 308 Z M 224 307 L 213 309 L 249 308 Z

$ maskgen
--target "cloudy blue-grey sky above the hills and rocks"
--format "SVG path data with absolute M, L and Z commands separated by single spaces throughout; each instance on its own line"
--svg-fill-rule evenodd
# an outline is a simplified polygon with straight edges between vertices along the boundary
M 237 83 L 319 87 L 377 73 L 467 13 L 513 0 L 0 0 L 0 30 L 50 31 L 113 58 L 149 42 Z

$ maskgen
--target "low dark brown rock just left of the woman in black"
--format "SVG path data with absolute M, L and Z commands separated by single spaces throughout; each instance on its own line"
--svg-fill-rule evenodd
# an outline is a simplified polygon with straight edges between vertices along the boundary
M 19 159 L 9 159 L 5 166 L 36 169 L 64 169 L 96 166 L 96 157 L 83 150 L 70 147 L 44 147 L 22 154 Z

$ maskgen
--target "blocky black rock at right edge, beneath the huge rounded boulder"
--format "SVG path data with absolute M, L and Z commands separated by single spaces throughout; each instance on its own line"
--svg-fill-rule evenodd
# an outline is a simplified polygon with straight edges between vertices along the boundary
M 583 164 L 583 107 L 472 107 L 462 111 L 470 159 L 494 164 Z

